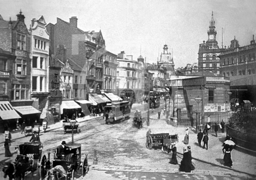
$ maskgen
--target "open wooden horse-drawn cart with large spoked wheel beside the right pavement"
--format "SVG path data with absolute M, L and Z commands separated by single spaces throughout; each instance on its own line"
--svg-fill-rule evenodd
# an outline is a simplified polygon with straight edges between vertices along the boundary
M 160 133 L 155 131 L 154 134 L 149 130 L 147 132 L 146 147 L 152 149 L 153 146 L 162 146 L 168 148 L 170 145 L 179 142 L 178 134 L 169 135 L 169 133 Z

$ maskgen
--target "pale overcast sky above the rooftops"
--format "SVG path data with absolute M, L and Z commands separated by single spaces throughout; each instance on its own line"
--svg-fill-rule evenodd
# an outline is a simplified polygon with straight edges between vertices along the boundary
M 256 35 L 255 0 L 1 0 L 0 14 L 5 20 L 16 20 L 22 10 L 29 28 L 32 18 L 43 15 L 46 23 L 55 24 L 57 17 L 69 22 L 78 18 L 84 31 L 100 29 L 107 50 L 118 54 L 124 50 L 137 59 L 157 61 L 158 51 L 166 43 L 173 48 L 175 68 L 198 62 L 199 44 L 208 39 L 207 30 L 213 11 L 219 46 L 236 39 L 249 45 Z M 256 37 L 255 37 L 256 39 Z

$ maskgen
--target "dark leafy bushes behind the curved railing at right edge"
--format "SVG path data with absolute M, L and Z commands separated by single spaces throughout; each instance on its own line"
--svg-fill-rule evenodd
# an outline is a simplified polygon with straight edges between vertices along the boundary
M 229 127 L 244 133 L 256 134 L 256 111 L 239 111 L 229 119 Z

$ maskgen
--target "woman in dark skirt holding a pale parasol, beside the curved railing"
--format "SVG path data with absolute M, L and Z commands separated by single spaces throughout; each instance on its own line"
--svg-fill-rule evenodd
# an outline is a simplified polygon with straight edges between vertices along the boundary
M 228 140 L 225 140 L 223 142 L 223 154 L 224 154 L 224 166 L 228 166 L 231 167 L 233 165 L 233 161 L 231 159 L 231 151 L 233 150 L 234 146 L 235 146 L 235 142 L 231 140 L 231 137 L 229 137 Z

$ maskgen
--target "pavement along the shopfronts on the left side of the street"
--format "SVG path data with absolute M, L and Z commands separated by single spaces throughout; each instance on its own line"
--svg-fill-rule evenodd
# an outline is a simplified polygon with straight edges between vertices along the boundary
M 76 120 L 77 120 L 78 123 L 81 123 L 81 122 L 89 121 L 89 120 L 95 119 L 95 118 L 102 118 L 102 115 L 101 116 L 87 115 L 87 116 L 84 116 L 82 118 L 77 118 Z M 55 124 L 52 124 L 52 125 L 48 125 L 48 128 L 46 129 L 45 133 L 47 133 L 48 131 L 59 129 L 59 128 L 62 128 L 62 121 L 56 122 Z M 40 126 L 40 134 L 42 134 L 42 133 L 44 133 L 44 130 L 43 130 L 43 127 Z M 17 140 L 17 139 L 20 139 L 20 138 L 24 137 L 24 134 L 21 134 L 21 130 L 12 131 L 11 134 L 12 134 L 12 142 Z M 4 135 L 0 136 L 0 144 L 4 143 L 4 141 L 5 141 Z

